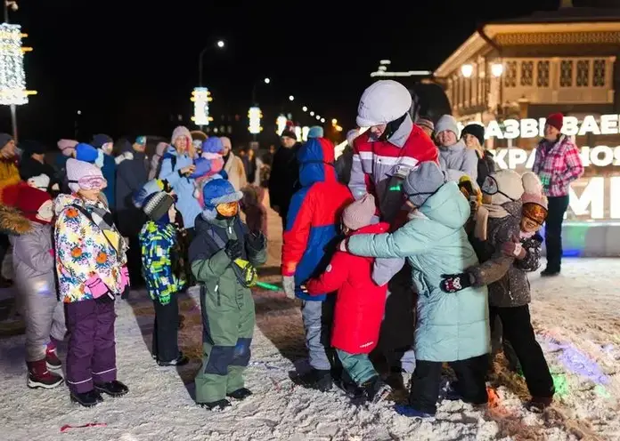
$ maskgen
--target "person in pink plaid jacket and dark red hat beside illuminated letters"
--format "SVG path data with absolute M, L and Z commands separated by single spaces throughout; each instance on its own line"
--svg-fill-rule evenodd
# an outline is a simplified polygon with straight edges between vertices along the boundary
M 547 117 L 544 138 L 536 147 L 532 171 L 542 182 L 544 195 L 549 199 L 549 214 L 545 226 L 547 268 L 542 277 L 559 275 L 562 261 L 562 221 L 568 208 L 570 183 L 583 174 L 579 149 L 562 134 L 564 116 L 554 113 Z

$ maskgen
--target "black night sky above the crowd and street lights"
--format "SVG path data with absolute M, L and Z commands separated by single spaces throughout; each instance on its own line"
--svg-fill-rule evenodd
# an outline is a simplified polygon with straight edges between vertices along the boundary
M 169 136 L 192 114 L 198 58 L 210 50 L 203 83 L 213 93 L 212 115 L 247 119 L 252 85 L 265 117 L 280 109 L 301 124 L 307 105 L 355 122 L 357 100 L 379 60 L 391 70 L 436 68 L 485 20 L 555 9 L 559 0 L 371 2 L 209 2 L 19 0 L 11 21 L 29 34 L 24 45 L 27 84 L 38 95 L 18 108 L 21 139 L 54 142 L 93 132 Z M 339 4 L 339 5 L 336 5 Z M 357 6 L 354 6 L 357 4 Z M 262 78 L 272 83 L 265 85 Z M 289 95 L 296 97 L 293 103 Z M 77 110 L 82 115 L 77 116 Z M 10 132 L 9 108 L 0 130 Z M 233 142 L 244 142 L 237 133 Z M 235 139 L 237 138 L 237 139 Z

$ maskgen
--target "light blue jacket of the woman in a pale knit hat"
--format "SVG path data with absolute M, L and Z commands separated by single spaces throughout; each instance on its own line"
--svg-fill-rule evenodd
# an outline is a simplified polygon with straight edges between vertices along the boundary
M 175 162 L 174 167 L 173 162 Z M 179 174 L 179 170 L 192 164 L 192 157 L 179 155 L 176 149 L 170 146 L 161 158 L 161 171 L 159 172 L 159 179 L 167 180 L 179 198 L 176 208 L 183 216 L 186 229 L 193 229 L 196 216 L 202 212 L 198 199 L 193 196 L 194 180 Z

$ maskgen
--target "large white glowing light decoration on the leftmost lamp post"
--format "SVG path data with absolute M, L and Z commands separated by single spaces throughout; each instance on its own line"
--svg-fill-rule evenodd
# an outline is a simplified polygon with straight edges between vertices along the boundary
M 0 24 L 0 104 L 21 105 L 28 103 L 26 90 L 24 52 L 21 48 L 21 27 Z

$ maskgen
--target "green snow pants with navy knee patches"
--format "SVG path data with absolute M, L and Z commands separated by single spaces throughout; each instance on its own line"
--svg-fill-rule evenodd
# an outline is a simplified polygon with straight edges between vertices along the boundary
M 196 374 L 196 402 L 213 403 L 243 388 L 256 316 L 247 288 L 233 296 L 200 290 L 202 366 Z

